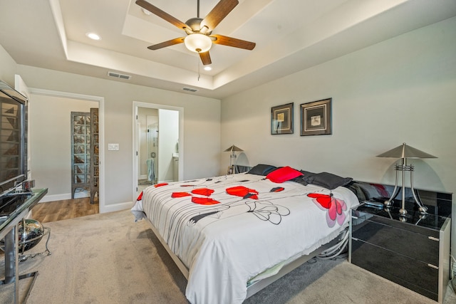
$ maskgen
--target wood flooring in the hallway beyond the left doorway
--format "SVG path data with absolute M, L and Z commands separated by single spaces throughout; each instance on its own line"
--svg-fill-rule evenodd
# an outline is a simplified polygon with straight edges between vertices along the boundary
M 63 201 L 47 201 L 46 203 L 36 204 L 32 212 L 32 219 L 41 223 L 50 221 L 61 221 L 63 219 L 73 219 L 75 217 L 98 214 L 98 201 L 90 204 L 90 198 L 65 199 Z

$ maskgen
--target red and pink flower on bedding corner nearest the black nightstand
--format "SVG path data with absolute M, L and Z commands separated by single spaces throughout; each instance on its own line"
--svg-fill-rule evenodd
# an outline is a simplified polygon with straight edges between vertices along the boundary
M 343 222 L 346 219 L 346 215 L 343 211 L 347 210 L 347 204 L 341 199 L 336 199 L 333 194 L 320 194 L 320 193 L 310 193 L 307 196 L 314 199 L 314 203 L 317 206 L 323 207 L 323 210 L 328 210 L 326 214 L 326 222 L 329 227 L 333 227 L 336 224 L 336 221 L 339 225 L 343 225 Z

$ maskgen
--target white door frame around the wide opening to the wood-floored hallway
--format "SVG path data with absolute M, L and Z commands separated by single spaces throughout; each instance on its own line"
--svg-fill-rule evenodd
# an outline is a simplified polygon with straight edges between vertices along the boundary
M 100 213 L 105 213 L 110 210 L 105 207 L 105 98 L 94 95 L 84 95 L 78 93 L 68 93 L 55 90 L 44 90 L 39 88 L 29 88 L 32 95 L 46 95 L 58 98 L 71 98 L 76 100 L 88 100 L 98 102 L 98 161 L 99 161 L 99 180 L 98 184 L 98 209 Z

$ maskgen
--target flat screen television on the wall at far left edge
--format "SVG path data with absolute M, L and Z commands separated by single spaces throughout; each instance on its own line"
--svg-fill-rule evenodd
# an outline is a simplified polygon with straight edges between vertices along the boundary
M 27 98 L 0 80 L 0 196 L 27 178 Z

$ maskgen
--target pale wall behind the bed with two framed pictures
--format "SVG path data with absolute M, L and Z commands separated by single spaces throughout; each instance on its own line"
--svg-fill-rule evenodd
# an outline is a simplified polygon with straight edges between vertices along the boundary
M 242 147 L 250 165 L 394 184 L 396 159 L 375 155 L 406 142 L 438 157 L 413 161 L 415 188 L 455 193 L 455 37 L 456 18 L 447 19 L 226 98 L 220 148 Z M 333 98 L 333 135 L 301 137 L 299 105 L 324 98 Z M 270 135 L 271 107 L 290 102 L 294 134 Z

